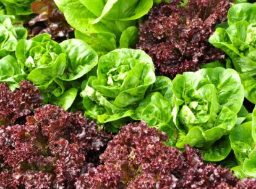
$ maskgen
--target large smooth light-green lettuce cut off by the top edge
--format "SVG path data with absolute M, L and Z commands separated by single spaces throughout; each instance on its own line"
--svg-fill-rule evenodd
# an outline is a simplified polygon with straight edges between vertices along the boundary
M 152 0 L 54 0 L 75 37 L 90 44 L 99 55 L 117 46 L 134 46 L 138 40 L 137 19 L 147 14 Z

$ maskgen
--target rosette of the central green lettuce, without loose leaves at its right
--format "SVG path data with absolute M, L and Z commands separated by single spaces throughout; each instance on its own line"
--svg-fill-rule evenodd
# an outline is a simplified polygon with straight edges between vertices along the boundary
M 155 81 L 153 62 L 145 52 L 113 50 L 100 58 L 97 76 L 82 91 L 85 116 L 119 127 L 120 119 L 134 116 Z

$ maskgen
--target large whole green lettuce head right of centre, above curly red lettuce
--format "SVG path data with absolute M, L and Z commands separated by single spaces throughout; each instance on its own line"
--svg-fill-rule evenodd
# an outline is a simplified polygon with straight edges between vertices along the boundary
M 200 148 L 207 161 L 220 161 L 231 151 L 228 135 L 244 100 L 239 74 L 207 68 L 173 80 L 173 118 L 179 130 L 176 147 Z

